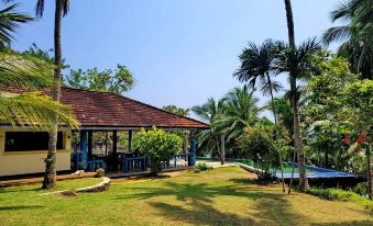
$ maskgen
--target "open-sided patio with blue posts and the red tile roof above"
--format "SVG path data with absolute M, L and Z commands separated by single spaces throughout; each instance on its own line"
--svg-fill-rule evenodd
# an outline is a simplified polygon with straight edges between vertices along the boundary
M 141 128 L 150 129 L 152 126 L 184 132 L 184 152 L 165 159 L 163 169 L 186 169 L 196 162 L 195 133 L 209 129 L 209 125 L 194 118 L 108 92 L 62 88 L 61 101 L 73 106 L 80 123 L 79 131 L 73 132 L 78 134 L 75 138 L 79 138 L 72 140 L 72 170 L 103 168 L 114 174 L 145 173 L 149 159 L 133 149 L 133 137 Z M 105 136 L 105 144 L 97 143 L 95 135 Z M 127 145 L 121 146 L 123 143 Z

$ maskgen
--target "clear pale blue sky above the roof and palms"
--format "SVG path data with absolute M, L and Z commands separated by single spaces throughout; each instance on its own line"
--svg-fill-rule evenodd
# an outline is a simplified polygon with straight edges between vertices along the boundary
M 21 12 L 34 15 L 36 0 L 19 1 Z M 44 16 L 20 27 L 13 48 L 53 48 L 54 1 L 45 2 Z M 292 2 L 297 43 L 332 25 L 338 0 Z M 242 86 L 232 77 L 239 54 L 249 41 L 266 38 L 287 41 L 283 0 L 70 0 L 62 31 L 72 68 L 125 65 L 136 84 L 124 95 L 158 108 L 200 105 Z M 267 102 L 257 97 L 259 105 Z

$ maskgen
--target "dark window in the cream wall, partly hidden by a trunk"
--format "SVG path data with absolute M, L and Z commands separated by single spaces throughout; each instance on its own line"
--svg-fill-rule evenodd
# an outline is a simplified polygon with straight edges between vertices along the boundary
M 6 132 L 6 151 L 47 150 L 46 132 Z M 64 149 L 64 134 L 57 134 L 57 149 Z

